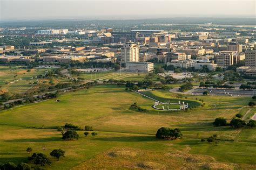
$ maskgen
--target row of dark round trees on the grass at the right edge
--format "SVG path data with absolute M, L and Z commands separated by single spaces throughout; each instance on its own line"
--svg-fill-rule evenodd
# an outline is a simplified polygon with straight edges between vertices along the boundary
M 243 128 L 243 127 L 248 127 L 248 128 L 254 128 L 256 126 L 256 121 L 250 120 L 248 123 L 246 123 L 244 120 L 241 119 L 242 115 L 237 114 L 235 115 L 231 122 L 228 124 L 227 120 L 223 117 L 216 118 L 215 121 L 213 122 L 213 125 L 215 126 L 231 126 L 232 128 Z

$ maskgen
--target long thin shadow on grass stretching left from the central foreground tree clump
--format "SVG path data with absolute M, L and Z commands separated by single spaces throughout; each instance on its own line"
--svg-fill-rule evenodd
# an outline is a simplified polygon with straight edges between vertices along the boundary
M 129 137 L 110 137 L 110 138 L 94 138 L 93 140 L 100 141 L 156 141 L 155 136 L 129 136 Z

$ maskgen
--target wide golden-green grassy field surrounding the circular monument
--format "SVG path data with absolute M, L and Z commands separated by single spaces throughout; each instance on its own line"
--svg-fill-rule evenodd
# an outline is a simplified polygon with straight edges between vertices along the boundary
M 52 159 L 48 169 L 256 168 L 255 129 L 212 125 L 216 117 L 230 121 L 235 114 L 245 113 L 250 98 L 185 98 L 163 90 L 147 93 L 164 102 L 171 98 L 199 104 L 196 109 L 180 112 L 137 112 L 129 109 L 132 103 L 151 108 L 154 101 L 124 87 L 96 86 L 63 94 L 59 103 L 52 99 L 4 110 L 0 112 L 0 162 L 27 162 L 30 154 L 25 150 L 32 147 L 33 152 L 48 155 L 54 148 L 66 151 L 66 157 Z M 201 103 L 206 104 L 201 107 Z M 63 141 L 60 132 L 52 128 L 65 123 L 93 126 L 98 135 L 85 138 L 83 131 L 78 131 L 78 140 Z M 154 134 L 162 126 L 179 128 L 183 138 L 156 139 Z M 218 144 L 200 142 L 213 134 L 221 139 Z

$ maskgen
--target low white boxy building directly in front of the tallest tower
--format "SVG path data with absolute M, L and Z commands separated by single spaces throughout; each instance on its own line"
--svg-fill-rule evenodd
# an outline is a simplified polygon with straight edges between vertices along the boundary
M 126 70 L 132 72 L 151 72 L 154 69 L 152 62 L 127 62 Z

